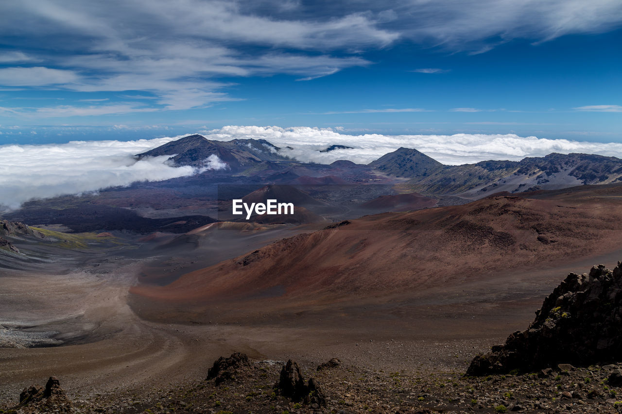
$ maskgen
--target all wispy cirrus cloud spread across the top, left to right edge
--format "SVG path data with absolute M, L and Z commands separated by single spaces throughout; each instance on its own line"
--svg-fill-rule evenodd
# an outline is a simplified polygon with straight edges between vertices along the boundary
M 160 110 L 205 108 L 233 99 L 232 78 L 311 81 L 373 65 L 365 52 L 397 42 L 479 53 L 621 22 L 619 0 L 0 2 L 0 35 L 11 39 L 10 50 L 0 48 L 0 65 L 11 65 L 0 68 L 0 87 L 124 92 L 155 98 L 149 105 Z

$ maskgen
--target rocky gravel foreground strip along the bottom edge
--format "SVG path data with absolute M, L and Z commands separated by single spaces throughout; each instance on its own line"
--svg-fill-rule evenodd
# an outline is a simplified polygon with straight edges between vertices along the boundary
M 325 361 L 324 361 L 325 362 Z M 448 369 L 382 370 L 340 364 L 317 370 L 301 364 L 327 396 L 325 407 L 294 402 L 274 389 L 284 361 L 254 361 L 233 379 L 187 380 L 141 392 L 76 396 L 74 413 L 618 413 L 622 390 L 608 376 L 622 364 L 559 366 L 522 375 L 463 377 Z M 206 372 L 207 375 L 207 372 Z M 62 384 L 61 384 L 62 385 Z M 54 412 L 54 408 L 47 408 Z M 4 411 L 10 413 L 11 411 Z M 16 413 L 42 412 L 26 406 Z M 45 411 L 43 411 L 45 412 Z M 62 412 L 62 411 L 61 411 Z M 0 411 L 2 413 L 2 411 Z

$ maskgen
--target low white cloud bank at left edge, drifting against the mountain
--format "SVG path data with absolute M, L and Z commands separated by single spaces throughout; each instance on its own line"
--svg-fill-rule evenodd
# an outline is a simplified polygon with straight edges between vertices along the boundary
M 196 168 L 170 166 L 165 162 L 168 156 L 140 161 L 132 157 L 177 138 L 0 146 L 3 159 L 0 207 L 17 208 L 32 198 L 85 193 L 197 173 Z

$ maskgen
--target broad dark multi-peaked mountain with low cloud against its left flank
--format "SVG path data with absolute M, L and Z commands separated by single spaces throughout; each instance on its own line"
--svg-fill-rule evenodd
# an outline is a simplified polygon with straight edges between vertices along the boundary
M 225 162 L 232 172 L 245 170 L 263 161 L 286 160 L 278 154 L 276 147 L 264 139 L 234 139 L 227 142 L 208 140 L 200 135 L 191 135 L 169 142 L 159 147 L 137 154 L 140 160 L 144 157 L 171 155 L 175 165 L 192 165 L 208 167 L 212 155 Z

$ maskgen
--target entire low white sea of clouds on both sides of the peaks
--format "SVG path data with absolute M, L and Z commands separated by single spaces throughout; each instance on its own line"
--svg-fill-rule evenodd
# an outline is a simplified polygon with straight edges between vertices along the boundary
M 335 129 L 312 127 L 226 126 L 201 131 L 212 140 L 266 139 L 281 153 L 302 162 L 331 163 L 351 160 L 369 163 L 399 147 L 414 148 L 445 164 L 483 160 L 521 160 L 551 152 L 622 157 L 622 144 L 579 142 L 565 139 L 520 137 L 514 134 L 454 135 L 348 135 Z M 67 144 L 2 145 L 0 154 L 0 211 L 18 208 L 33 198 L 97 191 L 138 181 L 160 181 L 227 167 L 216 155 L 202 168 L 174 167 L 169 157 L 136 160 L 133 155 L 159 147 L 178 137 L 133 141 L 74 141 Z M 319 152 L 330 145 L 352 149 Z M 292 147 L 287 149 L 285 147 Z

